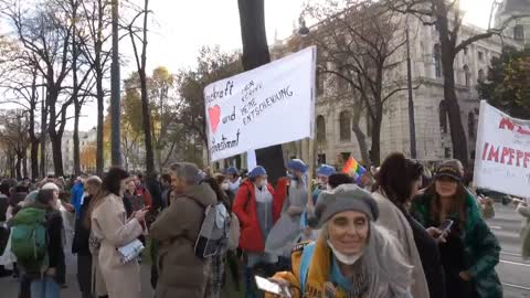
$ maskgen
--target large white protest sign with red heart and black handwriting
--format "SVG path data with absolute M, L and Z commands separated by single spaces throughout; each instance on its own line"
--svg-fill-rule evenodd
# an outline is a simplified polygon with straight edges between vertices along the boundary
M 312 138 L 316 47 L 204 88 L 211 161 Z

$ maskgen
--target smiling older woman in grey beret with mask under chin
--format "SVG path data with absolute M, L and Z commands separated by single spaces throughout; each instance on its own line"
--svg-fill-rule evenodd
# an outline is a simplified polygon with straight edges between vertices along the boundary
M 318 240 L 295 246 L 293 269 L 273 277 L 293 297 L 412 297 L 412 266 L 399 242 L 374 224 L 379 209 L 370 193 L 354 184 L 324 191 L 315 216 Z

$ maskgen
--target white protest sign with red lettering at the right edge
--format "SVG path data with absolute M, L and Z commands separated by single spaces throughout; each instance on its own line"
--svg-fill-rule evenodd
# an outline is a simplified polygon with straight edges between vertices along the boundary
M 474 180 L 478 188 L 530 196 L 530 120 L 480 103 Z

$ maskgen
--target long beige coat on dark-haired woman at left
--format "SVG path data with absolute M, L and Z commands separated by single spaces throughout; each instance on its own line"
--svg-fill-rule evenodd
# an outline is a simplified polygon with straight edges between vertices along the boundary
M 121 264 L 116 251 L 138 236 L 142 228 L 132 219 L 127 222 L 124 202 L 108 194 L 92 214 L 92 231 L 100 240 L 98 264 L 109 298 L 140 298 L 140 266 L 137 260 Z

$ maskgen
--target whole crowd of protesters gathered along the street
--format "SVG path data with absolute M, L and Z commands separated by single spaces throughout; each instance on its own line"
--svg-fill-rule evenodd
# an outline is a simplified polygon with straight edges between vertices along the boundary
M 113 167 L 72 182 L 3 180 L 0 275 L 18 278 L 21 298 L 60 297 L 74 254 L 81 297 L 140 298 L 149 256 L 157 298 L 221 297 L 229 279 L 262 297 L 256 276 L 285 289 L 265 297 L 502 297 L 485 222 L 494 204 L 457 160 L 434 174 L 402 153 L 358 179 L 328 164 L 309 177 L 299 159 L 286 170 L 274 185 L 261 166 L 188 162 L 160 177 Z M 524 201 L 518 211 L 530 219 Z

